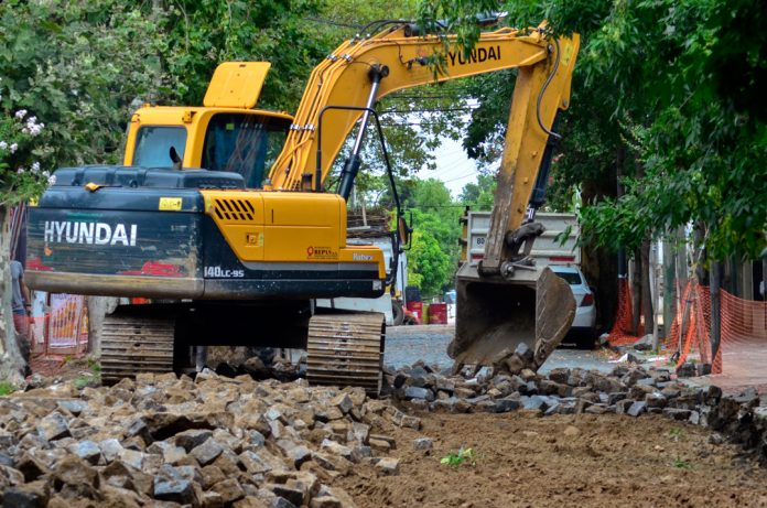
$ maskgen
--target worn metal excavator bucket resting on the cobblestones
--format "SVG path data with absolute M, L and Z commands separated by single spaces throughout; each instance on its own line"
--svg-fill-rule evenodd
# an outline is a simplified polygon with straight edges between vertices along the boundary
M 454 371 L 464 365 L 512 374 L 537 370 L 575 316 L 570 285 L 549 268 L 518 269 L 506 280 L 482 277 L 466 262 L 458 270 L 456 292 L 455 337 L 447 348 Z

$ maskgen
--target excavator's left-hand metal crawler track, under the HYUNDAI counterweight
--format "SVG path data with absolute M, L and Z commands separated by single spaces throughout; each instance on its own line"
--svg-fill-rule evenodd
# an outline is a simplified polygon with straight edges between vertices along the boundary
M 175 317 L 112 314 L 101 328 L 101 380 L 173 371 Z

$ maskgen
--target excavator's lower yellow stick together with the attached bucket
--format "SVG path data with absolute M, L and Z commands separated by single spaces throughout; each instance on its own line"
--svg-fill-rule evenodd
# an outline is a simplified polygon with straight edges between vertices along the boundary
M 529 258 L 543 227 L 543 204 L 558 111 L 570 105 L 579 36 L 550 41 L 550 57 L 520 67 L 498 172 L 485 256 L 456 275 L 456 328 L 449 354 L 454 369 L 494 366 L 537 370 L 561 343 L 575 316 L 568 283 Z M 523 249 L 520 252 L 520 249 Z

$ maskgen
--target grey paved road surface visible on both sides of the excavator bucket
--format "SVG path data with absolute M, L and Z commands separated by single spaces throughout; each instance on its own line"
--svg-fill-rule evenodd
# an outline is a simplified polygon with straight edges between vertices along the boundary
M 451 367 L 447 344 L 453 338 L 453 326 L 397 326 L 387 328 L 385 364 L 395 368 L 424 360 L 440 368 Z M 563 346 L 557 349 L 543 364 L 540 371 L 548 372 L 557 367 L 581 367 L 609 371 L 614 364 L 598 350 L 582 350 Z

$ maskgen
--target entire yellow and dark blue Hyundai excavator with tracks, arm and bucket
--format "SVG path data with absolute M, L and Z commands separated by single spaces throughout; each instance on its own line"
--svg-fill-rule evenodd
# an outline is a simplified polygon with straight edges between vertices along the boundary
M 377 298 L 393 278 L 379 248 L 346 241 L 346 201 L 360 150 L 369 130 L 381 134 L 374 107 L 403 88 L 506 68 L 519 71 L 496 230 L 488 235 L 494 247 L 478 270 L 458 275 L 451 355 L 465 364 L 508 364 L 509 347 L 542 341 L 547 347 L 536 349 L 542 360 L 566 331 L 570 302 L 551 299 L 562 294 L 561 284 L 526 263 L 516 246 L 532 238 L 520 234 L 534 229 L 522 221 L 534 224 L 531 193 L 545 184 L 541 167 L 550 162 L 554 117 L 568 107 L 577 36 L 553 37 L 545 24 L 486 31 L 471 54 L 444 55 L 445 72 L 434 76 L 429 62 L 444 34 L 401 21 L 371 23 L 365 33 L 375 35 L 344 42 L 315 67 L 295 116 L 256 108 L 269 63 L 229 62 L 216 69 L 204 106 L 136 111 L 125 165 L 56 171 L 55 185 L 30 212 L 29 285 L 152 299 L 105 320 L 106 381 L 179 370 L 188 366 L 193 346 L 247 345 L 307 348 L 311 382 L 378 391 L 382 315 L 314 304 Z M 325 188 L 356 125 L 338 186 Z M 397 253 L 409 228 L 392 191 Z

